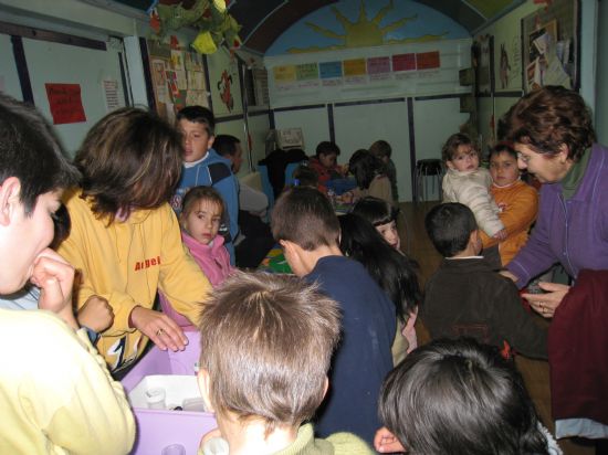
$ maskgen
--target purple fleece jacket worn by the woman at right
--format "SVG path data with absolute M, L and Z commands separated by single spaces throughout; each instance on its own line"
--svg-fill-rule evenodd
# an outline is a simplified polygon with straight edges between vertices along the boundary
M 608 269 L 608 149 L 600 145 L 570 199 L 560 182 L 543 184 L 536 226 L 507 269 L 522 288 L 555 263 L 573 278 L 583 268 Z

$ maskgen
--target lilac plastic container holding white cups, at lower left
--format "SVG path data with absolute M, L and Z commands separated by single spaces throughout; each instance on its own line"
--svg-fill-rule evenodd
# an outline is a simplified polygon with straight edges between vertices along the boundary
M 199 334 L 186 332 L 189 343 L 182 352 L 161 351 L 154 347 L 120 381 L 127 394 L 147 375 L 195 374 L 200 353 Z M 196 455 L 200 438 L 216 425 L 208 412 L 187 412 L 134 408 L 137 437 L 134 455 L 160 454 L 171 444 L 181 444 L 186 455 Z

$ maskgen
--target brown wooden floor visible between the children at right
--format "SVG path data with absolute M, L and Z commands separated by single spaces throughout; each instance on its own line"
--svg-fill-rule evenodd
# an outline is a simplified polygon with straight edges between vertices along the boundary
M 437 201 L 426 201 L 418 204 L 410 202 L 400 204 L 401 216 L 399 219 L 399 232 L 401 234 L 401 248 L 409 256 L 418 261 L 420 266 L 420 284 L 422 286 L 427 278 L 439 266 L 439 262 L 441 261 L 440 255 L 436 252 L 424 232 L 424 215 L 437 203 Z M 405 220 L 407 220 L 407 222 Z M 420 319 L 418 319 L 416 331 L 420 343 L 430 340 L 429 332 Z M 546 361 L 531 360 L 517 356 L 516 366 L 524 377 L 527 390 L 536 405 L 541 420 L 545 426 L 553 432 L 554 425 L 551 419 L 548 363 Z M 560 440 L 559 446 L 565 455 L 596 454 L 594 446 L 584 441 Z

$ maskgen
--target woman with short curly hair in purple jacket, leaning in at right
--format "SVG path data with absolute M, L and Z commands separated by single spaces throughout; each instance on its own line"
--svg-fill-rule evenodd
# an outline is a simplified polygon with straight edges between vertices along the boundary
M 504 274 L 522 288 L 560 263 L 572 278 L 584 268 L 608 269 L 608 149 L 594 144 L 591 113 L 577 93 L 546 86 L 520 99 L 503 117 L 518 166 L 544 183 L 536 226 Z M 546 318 L 569 287 L 541 283 L 524 294 Z

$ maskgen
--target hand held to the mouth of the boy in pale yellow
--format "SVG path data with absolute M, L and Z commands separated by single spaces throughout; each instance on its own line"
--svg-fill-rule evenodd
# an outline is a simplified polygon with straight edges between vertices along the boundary
M 38 307 L 55 313 L 69 326 L 77 329 L 72 310 L 74 267 L 53 250 L 45 248 L 34 260 L 30 281 L 40 287 Z

